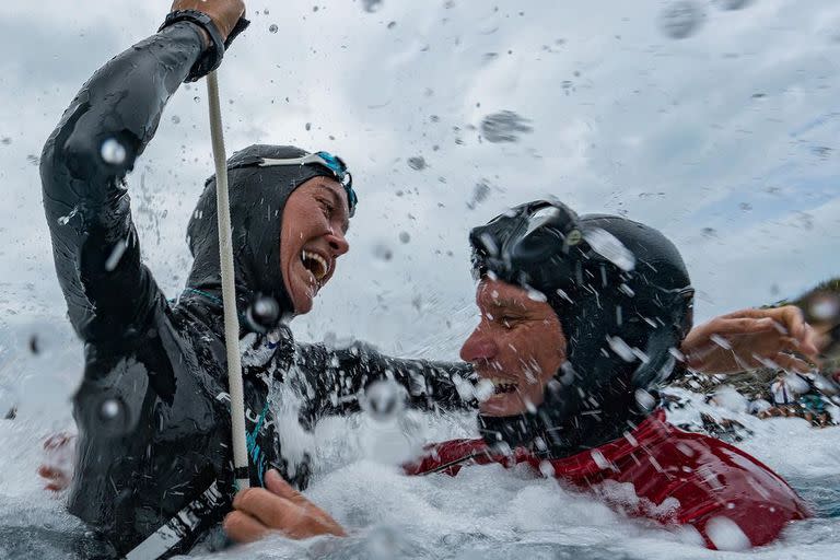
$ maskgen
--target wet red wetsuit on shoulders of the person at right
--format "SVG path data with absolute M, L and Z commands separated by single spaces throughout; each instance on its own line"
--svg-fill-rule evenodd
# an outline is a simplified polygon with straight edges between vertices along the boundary
M 675 428 L 661 409 L 628 436 L 562 459 L 541 459 L 524 448 L 513 456 L 493 455 L 483 440 L 452 440 L 430 446 L 405 470 L 455 476 L 465 465 L 518 463 L 538 472 L 553 470 L 556 478 L 579 488 L 599 485 L 596 491 L 607 490 L 600 493 L 614 503 L 609 481 L 630 482 L 639 500 L 619 500 L 617 505 L 626 511 L 630 505 L 631 513 L 663 523 L 690 524 L 709 548 L 716 548 L 715 526 L 731 527 L 716 517 L 735 522 L 752 546 L 760 546 L 775 539 L 788 522 L 810 515 L 805 502 L 767 466 L 720 440 Z

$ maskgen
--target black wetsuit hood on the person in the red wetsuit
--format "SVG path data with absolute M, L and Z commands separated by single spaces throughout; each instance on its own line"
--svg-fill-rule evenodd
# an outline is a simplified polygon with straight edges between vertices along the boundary
M 692 320 L 693 290 L 673 243 L 625 218 L 540 200 L 474 229 L 470 244 L 476 275 L 541 292 L 568 342 L 535 413 L 479 416 L 488 443 L 567 456 L 650 412 Z

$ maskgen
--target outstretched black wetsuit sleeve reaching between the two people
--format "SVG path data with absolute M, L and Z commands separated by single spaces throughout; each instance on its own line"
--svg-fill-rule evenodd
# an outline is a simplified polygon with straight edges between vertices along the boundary
M 329 350 L 298 345 L 298 364 L 314 395 L 311 415 L 348 413 L 360 408 L 359 396 L 371 383 L 392 378 L 408 392 L 408 404 L 420 410 L 471 410 L 475 374 L 464 362 L 402 360 L 383 355 L 363 343 Z

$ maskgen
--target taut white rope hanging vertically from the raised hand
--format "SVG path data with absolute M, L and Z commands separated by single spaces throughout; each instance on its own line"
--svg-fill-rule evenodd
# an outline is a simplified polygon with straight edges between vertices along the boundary
M 245 397 L 242 387 L 240 358 L 240 317 L 236 310 L 236 287 L 233 276 L 233 244 L 231 207 L 228 199 L 228 156 L 224 153 L 222 112 L 219 106 L 219 80 L 215 72 L 207 74 L 207 95 L 210 102 L 210 137 L 215 160 L 215 206 L 219 217 L 219 257 L 222 267 L 222 304 L 224 306 L 224 346 L 228 349 L 228 390 L 231 394 L 231 429 L 233 432 L 233 466 L 237 472 L 248 468 L 248 447 L 245 443 Z M 237 477 L 240 490 L 248 488 L 248 477 Z

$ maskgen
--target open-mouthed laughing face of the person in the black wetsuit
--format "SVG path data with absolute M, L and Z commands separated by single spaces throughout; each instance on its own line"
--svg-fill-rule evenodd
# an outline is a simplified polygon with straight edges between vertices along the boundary
M 313 177 L 298 187 L 283 209 L 280 267 L 294 312 L 312 310 L 312 300 L 332 278 L 336 259 L 350 249 L 347 195 L 328 177 Z

